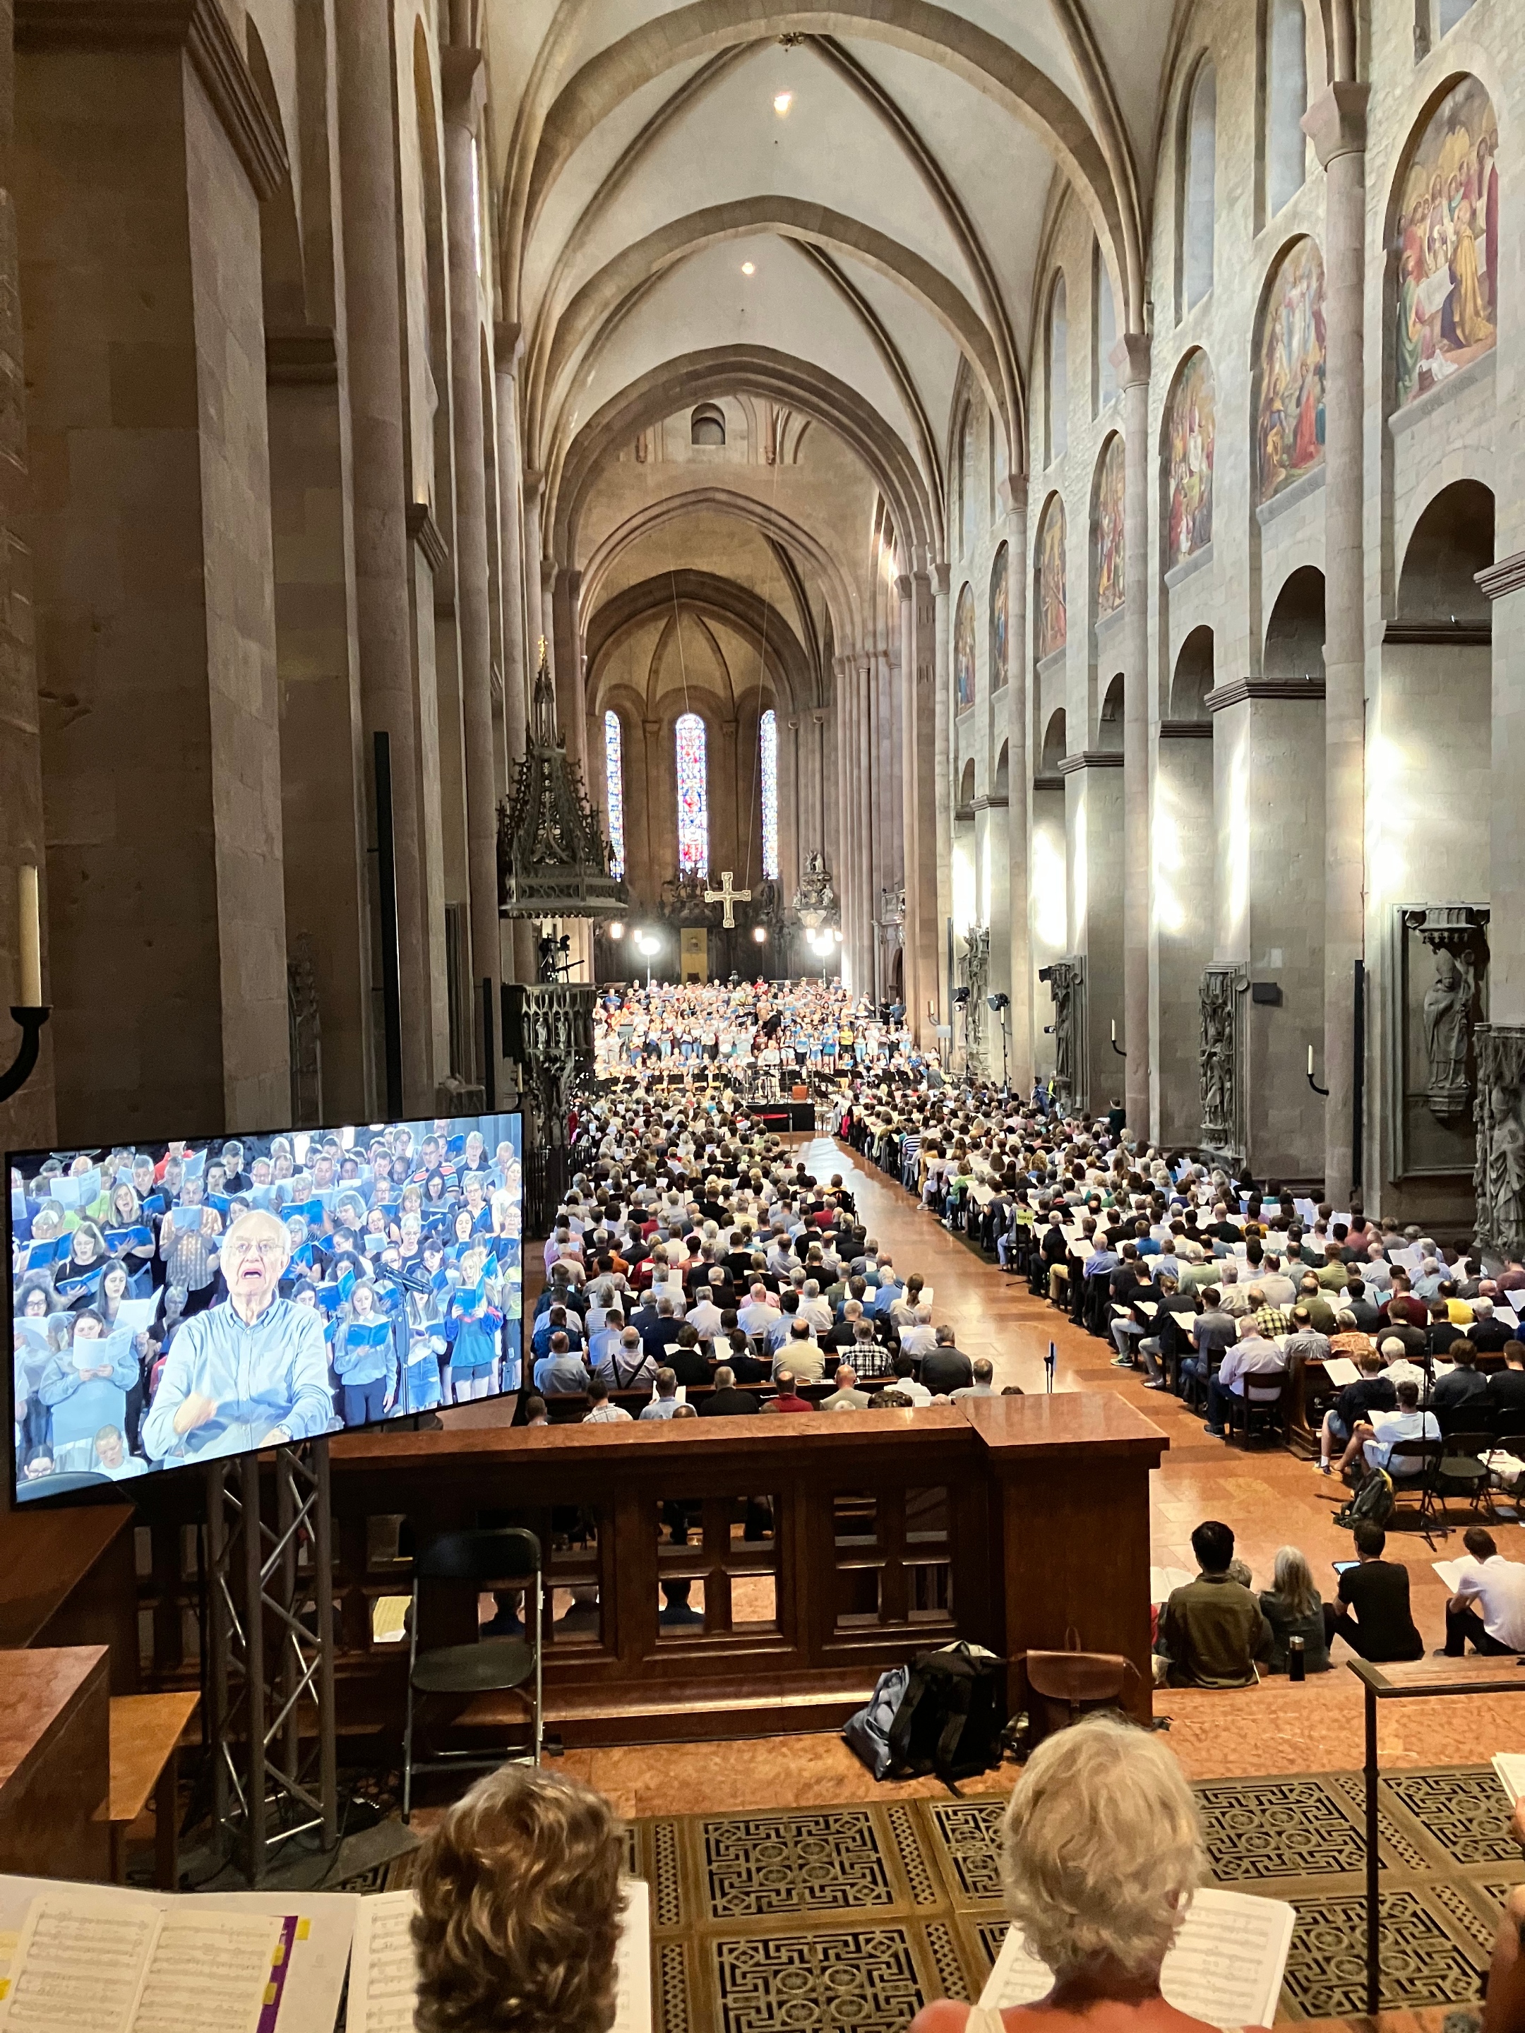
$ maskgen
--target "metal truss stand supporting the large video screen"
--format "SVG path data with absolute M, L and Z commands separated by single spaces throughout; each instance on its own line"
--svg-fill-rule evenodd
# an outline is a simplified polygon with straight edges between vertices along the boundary
M 214 1820 L 252 1887 L 340 1840 L 327 1437 L 274 1450 L 274 1525 L 260 1494 L 258 1456 L 209 1464 Z

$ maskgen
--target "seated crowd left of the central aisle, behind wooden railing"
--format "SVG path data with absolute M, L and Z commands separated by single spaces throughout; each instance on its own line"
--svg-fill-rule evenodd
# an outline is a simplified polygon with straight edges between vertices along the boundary
M 604 1090 L 545 1246 L 529 1338 L 547 1417 L 923 1407 L 994 1395 L 858 1220 L 744 1110 Z

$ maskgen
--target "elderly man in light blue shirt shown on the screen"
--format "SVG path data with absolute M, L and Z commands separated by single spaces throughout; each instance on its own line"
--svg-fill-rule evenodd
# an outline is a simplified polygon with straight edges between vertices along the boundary
M 323 1323 L 279 1293 L 291 1238 L 240 1214 L 222 1238 L 226 1305 L 187 1319 L 142 1421 L 150 1462 L 211 1460 L 325 1433 L 333 1419 Z

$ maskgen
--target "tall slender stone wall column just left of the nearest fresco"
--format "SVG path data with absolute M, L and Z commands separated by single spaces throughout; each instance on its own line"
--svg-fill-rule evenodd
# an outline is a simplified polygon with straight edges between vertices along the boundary
M 1350 1204 L 1356 1082 L 1354 972 L 1364 951 L 1366 630 L 1362 429 L 1366 407 L 1366 98 L 1340 81 L 1303 128 L 1324 165 L 1324 1191 Z

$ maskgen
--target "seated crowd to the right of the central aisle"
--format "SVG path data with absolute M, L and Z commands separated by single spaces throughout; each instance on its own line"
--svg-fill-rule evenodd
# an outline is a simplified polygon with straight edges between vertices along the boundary
M 1316 1364 L 1318 1466 L 1425 1472 L 1421 1443 L 1525 1441 L 1525 1265 L 1488 1275 L 1460 1246 L 1356 1206 L 1299 1202 L 1183 1153 L 1141 1155 L 1112 1118 L 1059 1118 L 988 1086 L 860 1080 L 840 1128 L 1035 1295 L 1110 1340 L 1147 1391 L 1226 1439 Z M 1330 1374 L 1330 1366 L 1334 1366 Z M 1413 1395 L 1403 1387 L 1411 1384 Z M 1397 1447 L 1397 1460 L 1393 1450 Z M 1417 1466 L 1415 1466 L 1417 1464 Z

